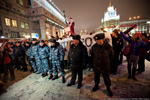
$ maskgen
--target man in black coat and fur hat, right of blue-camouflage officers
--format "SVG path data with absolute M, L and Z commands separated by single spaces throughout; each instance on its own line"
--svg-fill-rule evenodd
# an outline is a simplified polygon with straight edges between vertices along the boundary
M 76 76 L 78 74 L 78 89 L 81 88 L 83 79 L 83 68 L 87 66 L 88 54 L 87 48 L 80 41 L 80 35 L 73 35 L 73 44 L 70 46 L 68 53 L 68 66 L 71 68 L 72 77 L 71 82 L 67 86 L 75 84 Z

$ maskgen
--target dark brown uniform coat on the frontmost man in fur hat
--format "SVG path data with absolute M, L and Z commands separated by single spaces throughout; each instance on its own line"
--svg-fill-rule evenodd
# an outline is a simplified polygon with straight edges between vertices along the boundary
M 91 57 L 94 72 L 110 72 L 110 61 L 114 57 L 114 51 L 108 43 L 102 46 L 95 43 L 91 48 Z

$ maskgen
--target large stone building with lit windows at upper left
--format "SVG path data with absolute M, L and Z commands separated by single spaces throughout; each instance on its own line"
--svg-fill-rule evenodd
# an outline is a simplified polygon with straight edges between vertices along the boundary
M 45 5 L 48 4 L 48 5 Z M 0 36 L 48 39 L 63 35 L 65 19 L 46 0 L 0 0 Z

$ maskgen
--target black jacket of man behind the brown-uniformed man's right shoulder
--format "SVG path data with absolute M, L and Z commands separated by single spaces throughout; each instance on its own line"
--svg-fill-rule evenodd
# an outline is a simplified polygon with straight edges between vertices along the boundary
M 123 48 L 123 39 L 120 36 L 118 36 L 117 38 L 112 37 L 112 45 L 114 53 L 120 53 Z

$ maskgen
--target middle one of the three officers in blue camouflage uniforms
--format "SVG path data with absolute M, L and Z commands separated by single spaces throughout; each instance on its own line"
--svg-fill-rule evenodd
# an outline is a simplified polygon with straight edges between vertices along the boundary
M 42 76 L 45 77 L 47 76 L 47 72 L 49 71 L 50 76 L 52 75 L 52 69 L 49 68 L 49 63 L 48 63 L 48 55 L 49 55 L 49 47 L 44 43 L 44 40 L 40 40 L 39 42 L 39 58 L 42 63 Z

